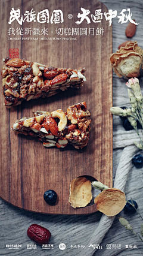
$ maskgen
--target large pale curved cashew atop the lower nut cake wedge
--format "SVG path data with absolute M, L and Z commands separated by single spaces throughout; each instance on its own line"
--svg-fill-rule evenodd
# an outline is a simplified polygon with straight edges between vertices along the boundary
M 58 131 L 63 131 L 64 127 L 67 125 L 67 117 L 64 114 L 63 110 L 58 109 L 51 113 L 52 118 L 59 118 L 60 122 L 58 123 Z

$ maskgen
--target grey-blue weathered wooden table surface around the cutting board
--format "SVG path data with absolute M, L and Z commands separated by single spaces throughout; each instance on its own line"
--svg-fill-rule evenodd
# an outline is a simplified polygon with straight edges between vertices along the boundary
M 70 1 L 69 1 L 70 2 Z M 117 10 L 119 14 L 123 8 L 130 8 L 132 11 L 132 17 L 139 25 L 137 31 L 132 40 L 138 41 L 139 46 L 143 47 L 142 37 L 142 0 L 138 1 L 102 1 L 108 9 Z M 123 41 L 126 41 L 125 36 L 125 24 L 118 23 L 118 19 L 113 20 L 113 52 L 117 50 L 117 47 Z M 119 79 L 113 74 L 113 106 L 129 106 L 128 93 L 125 86 L 125 80 Z M 134 131 L 126 132 L 120 124 L 120 119 L 115 117 L 113 119 L 113 179 L 116 173 L 117 165 L 119 163 L 120 155 L 123 147 L 130 144 L 130 140 L 135 136 Z M 122 136 L 120 135 L 122 134 Z M 132 143 L 132 142 L 131 142 Z M 126 183 L 126 198 L 129 200 L 130 196 L 133 200 L 137 201 L 139 212 L 143 215 L 142 204 L 142 169 L 136 170 L 132 167 L 129 173 L 128 182 Z M 127 218 L 132 224 L 136 232 L 139 231 L 141 225 L 141 219 L 138 215 L 129 215 L 128 217 L 122 212 L 122 216 Z M 0 255 L 84 255 L 82 248 L 71 248 L 71 245 L 84 245 L 91 237 L 95 228 L 100 221 L 101 213 L 93 213 L 85 216 L 52 216 L 42 215 L 41 213 L 32 213 L 25 210 L 20 210 L 11 206 L 5 201 L 1 200 L 1 246 Z M 54 250 L 42 250 L 40 246 L 36 250 L 27 250 L 27 244 L 33 244 L 32 241 L 26 235 L 26 230 L 29 225 L 36 223 L 48 228 L 52 237 L 51 244 L 54 244 Z M 21 248 L 13 251 L 5 248 L 6 244 L 21 244 Z M 66 250 L 60 251 L 58 245 L 60 243 L 66 244 Z M 121 244 L 122 249 L 106 249 L 107 244 Z M 102 256 L 135 256 L 143 255 L 142 242 L 133 236 L 128 230 L 123 228 L 118 218 L 116 217 L 112 227 L 102 240 L 102 249 L 95 252 L 94 255 Z M 125 245 L 137 245 L 136 249 L 125 249 Z M 85 255 L 86 256 L 86 255 Z

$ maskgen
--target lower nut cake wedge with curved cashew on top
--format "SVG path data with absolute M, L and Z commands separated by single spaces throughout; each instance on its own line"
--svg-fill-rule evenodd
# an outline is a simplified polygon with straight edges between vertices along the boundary
M 88 144 L 91 115 L 86 103 L 68 107 L 67 112 L 58 109 L 54 112 L 34 112 L 33 118 L 22 118 L 15 121 L 11 129 L 17 134 L 30 135 L 42 141 L 45 147 L 58 148 L 72 144 L 82 149 Z

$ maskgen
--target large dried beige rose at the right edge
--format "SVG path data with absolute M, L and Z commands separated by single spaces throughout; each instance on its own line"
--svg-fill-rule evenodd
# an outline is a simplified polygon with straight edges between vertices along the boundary
M 142 65 L 143 50 L 136 41 L 129 42 L 125 47 L 120 47 L 110 57 L 114 73 L 119 77 L 139 77 L 139 70 Z

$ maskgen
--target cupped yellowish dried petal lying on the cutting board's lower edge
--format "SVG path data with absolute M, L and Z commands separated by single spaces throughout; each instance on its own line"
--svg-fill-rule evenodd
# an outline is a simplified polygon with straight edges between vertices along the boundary
M 73 179 L 70 183 L 69 202 L 73 208 L 85 207 L 92 199 L 91 182 L 85 177 Z

